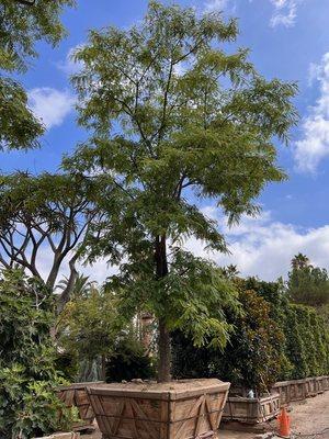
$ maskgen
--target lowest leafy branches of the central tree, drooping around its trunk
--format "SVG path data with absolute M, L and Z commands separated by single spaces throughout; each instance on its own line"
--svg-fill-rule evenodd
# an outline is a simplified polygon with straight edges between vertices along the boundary
M 163 316 L 168 329 L 180 328 L 195 346 L 224 347 L 232 330 L 227 312 L 239 313 L 238 293 L 213 262 L 172 248 L 169 273 L 151 275 L 143 261 L 122 264 L 121 273 L 107 283 L 120 297 L 118 312 L 131 318 L 138 312 Z M 134 271 L 132 271 L 134 268 Z

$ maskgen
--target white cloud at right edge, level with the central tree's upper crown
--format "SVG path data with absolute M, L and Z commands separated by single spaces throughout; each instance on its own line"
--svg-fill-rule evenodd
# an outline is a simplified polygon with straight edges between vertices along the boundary
M 309 80 L 319 82 L 319 98 L 302 124 L 303 138 L 296 142 L 294 157 L 297 169 L 314 173 L 329 156 L 329 52 L 320 65 L 310 65 Z

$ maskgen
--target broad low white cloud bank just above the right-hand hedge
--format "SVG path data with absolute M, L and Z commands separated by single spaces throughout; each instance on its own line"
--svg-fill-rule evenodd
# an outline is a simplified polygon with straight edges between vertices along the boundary
M 213 207 L 204 212 L 216 217 Z M 230 255 L 206 252 L 204 245 L 195 238 L 189 239 L 185 247 L 219 266 L 237 264 L 242 275 L 259 275 L 264 280 L 286 277 L 291 259 L 299 251 L 306 254 L 313 263 L 329 268 L 329 225 L 304 229 L 273 221 L 270 212 L 263 212 L 258 218 L 243 217 L 232 228 L 227 227 L 223 217 L 217 217 L 217 221 L 228 241 Z

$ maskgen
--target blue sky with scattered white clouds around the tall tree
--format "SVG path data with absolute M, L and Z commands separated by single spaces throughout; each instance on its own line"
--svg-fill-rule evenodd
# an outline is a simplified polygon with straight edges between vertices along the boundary
M 243 218 L 228 229 L 220 214 L 207 203 L 230 244 L 231 256 L 212 255 L 218 263 L 237 263 L 243 274 L 275 279 L 285 274 L 292 256 L 306 252 L 314 263 L 329 268 L 329 1 L 327 0 L 180 0 L 200 12 L 223 10 L 239 19 L 238 45 L 251 49 L 250 58 L 268 79 L 297 81 L 295 104 L 300 123 L 288 147 L 277 144 L 279 162 L 290 180 L 265 188 L 257 219 Z M 110 24 L 127 27 L 140 20 L 146 0 L 77 0 L 63 16 L 69 36 L 53 49 L 39 44 L 39 58 L 21 79 L 30 103 L 48 131 L 36 151 L 1 154 L 4 172 L 55 170 L 64 153 L 72 151 L 86 133 L 77 127 L 75 95 L 69 75 L 75 66 L 70 52 L 86 41 L 89 29 Z M 186 246 L 204 255 L 201 243 Z M 106 268 L 92 269 L 99 280 Z

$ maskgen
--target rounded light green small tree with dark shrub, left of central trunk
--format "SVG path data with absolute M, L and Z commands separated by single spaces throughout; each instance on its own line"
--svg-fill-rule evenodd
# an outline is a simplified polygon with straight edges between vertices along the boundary
M 112 382 L 154 376 L 151 359 L 120 302 L 118 294 L 90 284 L 82 294 L 76 291 L 58 316 L 58 344 L 77 365 L 72 380 L 86 381 L 93 372 L 97 380 Z

